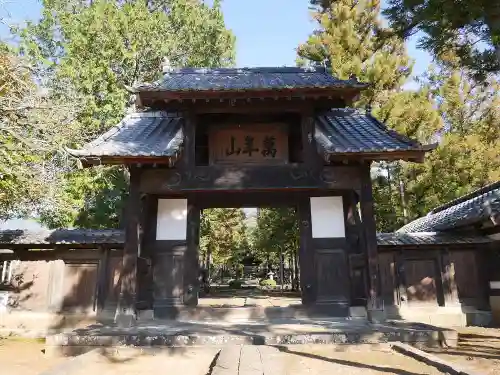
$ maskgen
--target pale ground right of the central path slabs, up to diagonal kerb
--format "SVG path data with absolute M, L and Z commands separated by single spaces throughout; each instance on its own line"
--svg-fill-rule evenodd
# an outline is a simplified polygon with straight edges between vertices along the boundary
M 442 375 L 412 358 L 380 347 L 350 347 L 339 351 L 330 345 L 297 345 L 282 348 L 286 374 L 318 375 Z

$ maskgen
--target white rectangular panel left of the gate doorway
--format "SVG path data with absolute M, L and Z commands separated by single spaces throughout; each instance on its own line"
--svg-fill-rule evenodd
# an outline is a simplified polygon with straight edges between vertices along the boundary
M 158 199 L 157 240 L 185 240 L 187 199 Z

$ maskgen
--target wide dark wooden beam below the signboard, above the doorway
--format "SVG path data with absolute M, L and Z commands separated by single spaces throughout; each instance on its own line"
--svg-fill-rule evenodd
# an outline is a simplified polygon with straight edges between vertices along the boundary
M 212 166 L 191 170 L 144 170 L 140 190 L 149 194 L 189 191 L 243 191 L 271 189 L 358 189 L 356 167 Z

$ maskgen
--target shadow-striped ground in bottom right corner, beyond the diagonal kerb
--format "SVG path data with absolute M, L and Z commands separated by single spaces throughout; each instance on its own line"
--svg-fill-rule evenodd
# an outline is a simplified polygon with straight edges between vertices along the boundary
M 458 331 L 457 348 L 428 349 L 427 352 L 480 374 L 500 374 L 500 329 L 466 327 Z

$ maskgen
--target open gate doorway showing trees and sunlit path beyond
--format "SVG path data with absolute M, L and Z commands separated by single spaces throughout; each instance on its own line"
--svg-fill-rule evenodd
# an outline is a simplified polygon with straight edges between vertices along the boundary
M 198 306 L 301 305 L 297 208 L 201 210 Z

